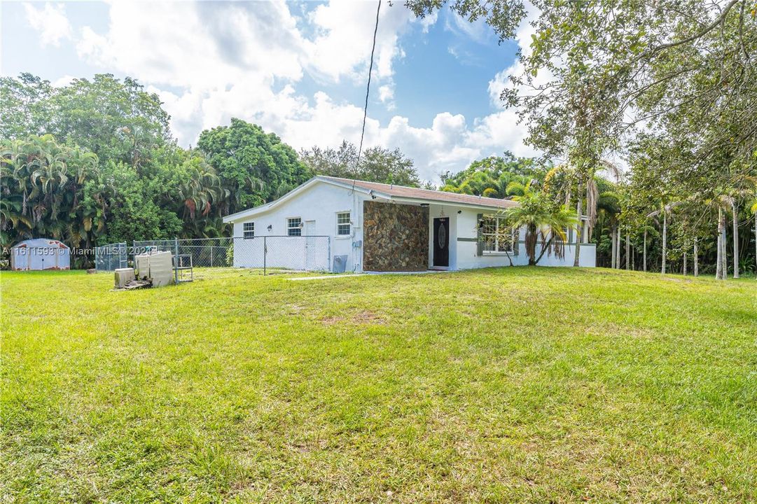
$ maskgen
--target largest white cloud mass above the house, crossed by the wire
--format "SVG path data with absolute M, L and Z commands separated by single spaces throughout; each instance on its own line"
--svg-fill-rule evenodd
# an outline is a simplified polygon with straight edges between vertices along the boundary
M 310 76 L 317 87 L 347 82 L 363 86 L 368 70 L 375 4 L 329 2 L 298 12 L 284 2 L 114 2 L 107 30 L 85 26 L 76 37 L 79 57 L 120 71 L 157 93 L 171 115 L 182 145 L 197 142 L 203 129 L 239 117 L 276 132 L 296 149 L 360 142 L 363 103 L 335 99 L 324 91 L 304 94 Z M 416 20 L 397 2 L 382 5 L 373 98 L 394 107 L 394 67 L 404 56 L 403 34 L 416 23 L 428 30 L 436 16 Z M 481 37 L 481 26 L 453 21 L 466 36 Z M 514 69 L 512 69 L 514 70 Z M 500 86 L 498 74 L 490 94 Z M 497 95 L 501 91 L 497 90 Z M 395 115 L 366 121 L 365 145 L 400 148 L 413 158 L 422 178 L 438 182 L 446 170 L 504 150 L 534 154 L 522 145 L 525 130 L 512 111 L 493 100 L 492 114 L 466 120 L 440 112 L 429 125 Z M 499 109 L 499 111 L 497 111 Z

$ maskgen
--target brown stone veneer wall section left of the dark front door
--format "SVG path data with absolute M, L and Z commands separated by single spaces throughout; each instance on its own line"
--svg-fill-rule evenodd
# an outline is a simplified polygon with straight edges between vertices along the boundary
M 365 201 L 363 269 L 428 269 L 428 207 Z

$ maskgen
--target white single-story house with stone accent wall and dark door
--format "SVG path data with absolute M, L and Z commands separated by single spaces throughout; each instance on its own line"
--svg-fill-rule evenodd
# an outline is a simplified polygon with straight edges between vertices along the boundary
M 500 229 L 503 210 L 516 205 L 499 198 L 316 176 L 276 201 L 223 221 L 234 225 L 234 266 L 262 267 L 266 255 L 269 266 L 275 261 L 293 269 L 332 269 L 341 261 L 354 272 L 456 270 L 528 263 L 525 231 L 511 235 Z M 268 237 L 266 244 L 261 237 Z M 313 260 L 316 253 L 325 260 Z M 565 257 L 545 254 L 539 264 L 572 266 L 574 254 L 575 233 L 570 233 Z M 596 266 L 593 244 L 581 244 L 580 263 Z

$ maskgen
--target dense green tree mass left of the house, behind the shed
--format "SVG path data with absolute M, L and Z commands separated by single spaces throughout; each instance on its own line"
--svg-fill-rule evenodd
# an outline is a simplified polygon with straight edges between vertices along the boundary
M 97 75 L 54 87 L 0 79 L 0 241 L 51 237 L 74 247 L 222 236 L 228 213 L 310 177 L 298 154 L 234 119 L 176 145 L 157 95 Z

